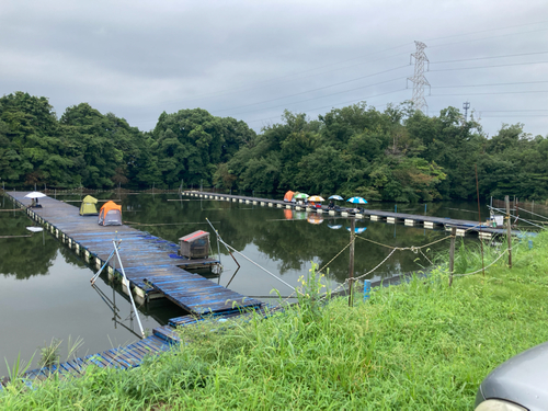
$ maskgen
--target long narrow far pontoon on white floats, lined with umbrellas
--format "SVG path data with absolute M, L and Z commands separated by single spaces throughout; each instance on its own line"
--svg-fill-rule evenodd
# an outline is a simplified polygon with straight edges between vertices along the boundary
M 355 217 L 355 218 L 370 218 L 372 221 L 386 221 L 388 224 L 396 224 L 397 221 L 402 221 L 406 226 L 422 225 L 424 228 L 433 229 L 436 226 L 445 227 L 446 230 L 450 231 L 456 228 L 457 236 L 464 236 L 466 232 L 478 233 L 481 238 L 491 238 L 493 235 L 505 235 L 506 230 L 501 228 L 492 228 L 487 225 L 479 225 L 478 221 L 455 219 L 455 218 L 444 218 L 444 217 L 433 217 L 433 216 L 421 216 L 415 214 L 406 213 L 391 213 L 381 212 L 377 209 L 361 209 L 356 212 L 356 208 L 349 207 L 336 207 L 335 209 L 329 209 L 327 206 L 311 207 L 307 205 L 300 205 L 296 203 L 287 203 L 281 199 L 261 198 L 261 197 L 250 197 L 243 195 L 231 195 L 231 194 L 218 194 L 201 191 L 185 191 L 184 195 L 217 199 L 235 203 L 254 204 L 269 207 L 277 208 L 288 208 L 295 210 L 306 210 L 308 213 L 326 214 L 329 216 L 342 216 L 342 217 Z M 512 235 L 518 235 L 518 231 L 512 231 Z

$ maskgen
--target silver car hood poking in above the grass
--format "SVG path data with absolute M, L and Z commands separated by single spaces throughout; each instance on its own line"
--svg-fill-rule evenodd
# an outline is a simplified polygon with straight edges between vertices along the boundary
M 529 410 L 548 404 L 548 342 L 510 358 L 481 383 L 484 399 L 500 398 Z

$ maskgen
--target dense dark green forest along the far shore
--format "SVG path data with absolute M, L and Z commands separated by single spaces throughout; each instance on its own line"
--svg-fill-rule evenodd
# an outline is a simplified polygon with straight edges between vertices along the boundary
M 418 202 L 515 195 L 548 199 L 548 136 L 523 124 L 488 138 L 455 107 L 426 116 L 409 103 L 359 103 L 318 118 L 285 111 L 256 134 L 202 109 L 161 113 L 141 132 L 88 103 L 58 117 L 47 98 L 0 98 L 5 189 L 217 187 Z

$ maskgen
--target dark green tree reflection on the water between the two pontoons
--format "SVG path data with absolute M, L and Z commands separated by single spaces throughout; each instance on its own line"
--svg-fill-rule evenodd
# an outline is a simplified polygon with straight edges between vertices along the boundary
M 350 221 L 344 218 L 336 219 L 342 228 L 332 230 L 326 221 L 321 225 L 311 225 L 306 220 L 284 220 L 282 209 L 218 201 L 167 202 L 168 198 L 175 197 L 164 195 L 155 197 L 128 196 L 124 201 L 124 205 L 127 204 L 133 210 L 139 212 L 128 213 L 124 219 L 157 224 L 199 222 L 199 225 L 135 226 L 155 236 L 176 242 L 180 237 L 197 229 L 213 233 L 206 224 L 207 217 L 212 221 L 219 221 L 215 224 L 215 227 L 222 238 L 236 249 L 243 250 L 248 244 L 253 243 L 270 259 L 278 261 L 278 270 L 282 274 L 290 270 L 304 270 L 311 260 L 318 261 L 320 266 L 323 266 L 350 241 L 350 232 L 346 230 Z M 189 199 L 189 197 L 183 198 Z M 436 207 L 439 206 L 436 205 Z M 424 230 L 418 227 L 409 228 L 401 225 L 395 227 L 386 222 L 370 220 L 358 221 L 357 226 L 367 227 L 367 230 L 361 235 L 362 237 L 391 247 L 421 246 L 444 236 L 439 231 Z M 217 248 L 213 235 L 212 244 L 216 253 Z M 431 247 L 429 254 L 432 255 L 434 250 L 443 252 L 446 249 L 448 250 L 448 242 L 442 242 Z M 222 247 L 220 251 L 222 254 L 227 253 Z M 386 259 L 390 251 L 389 248 L 356 239 L 354 263 L 356 275 L 374 269 Z M 398 251 L 379 271 L 390 275 L 402 271 L 421 270 L 422 266 L 429 264 L 420 253 Z M 342 281 L 347 277 L 347 274 L 349 250 L 345 250 L 330 264 L 330 276 Z

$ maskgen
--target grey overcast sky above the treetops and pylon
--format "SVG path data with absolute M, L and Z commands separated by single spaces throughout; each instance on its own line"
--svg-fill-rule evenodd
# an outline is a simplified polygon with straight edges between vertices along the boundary
M 548 136 L 548 1 L 3 0 L 0 90 L 88 102 L 141 130 L 201 107 L 255 130 L 412 96 L 426 44 L 429 115 L 449 105 Z M 414 60 L 413 60 L 414 64 Z M 470 113 L 469 111 L 469 113 Z

